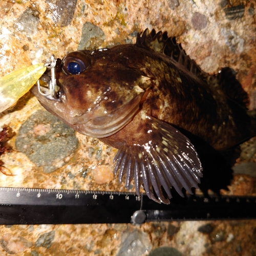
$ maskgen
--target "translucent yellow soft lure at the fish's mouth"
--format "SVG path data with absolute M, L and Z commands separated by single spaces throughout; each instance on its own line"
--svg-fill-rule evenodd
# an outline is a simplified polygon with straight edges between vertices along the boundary
M 39 63 L 0 78 L 0 113 L 14 106 L 45 71 L 45 63 Z

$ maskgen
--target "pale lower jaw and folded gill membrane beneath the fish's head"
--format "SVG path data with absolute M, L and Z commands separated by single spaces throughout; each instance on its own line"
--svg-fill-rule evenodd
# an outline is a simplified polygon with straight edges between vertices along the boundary
M 30 91 L 51 114 L 57 116 L 79 133 L 95 138 L 108 137 L 120 131 L 139 110 L 144 95 L 144 92 L 137 94 L 111 113 L 104 114 L 100 108 L 97 108 L 89 113 L 70 116 L 70 112 L 65 108 L 65 102 L 41 95 L 37 86 L 34 86 Z

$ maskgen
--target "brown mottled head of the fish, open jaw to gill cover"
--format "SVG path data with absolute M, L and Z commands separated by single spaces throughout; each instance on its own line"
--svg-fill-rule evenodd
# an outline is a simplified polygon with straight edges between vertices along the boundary
M 32 93 L 78 132 L 102 138 L 126 125 L 139 109 L 150 78 L 108 51 L 77 51 L 57 61 L 54 97 Z

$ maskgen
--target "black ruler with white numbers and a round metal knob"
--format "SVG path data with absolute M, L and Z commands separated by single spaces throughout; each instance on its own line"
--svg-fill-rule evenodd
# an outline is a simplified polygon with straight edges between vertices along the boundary
M 256 219 L 256 197 L 186 195 L 169 205 L 117 191 L 0 187 L 0 224 Z

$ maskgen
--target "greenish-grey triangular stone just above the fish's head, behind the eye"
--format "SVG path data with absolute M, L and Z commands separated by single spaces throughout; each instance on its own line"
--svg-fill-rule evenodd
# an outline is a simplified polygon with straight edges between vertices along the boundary
M 106 38 L 104 32 L 90 22 L 84 23 L 78 50 L 93 49 L 100 46 Z

